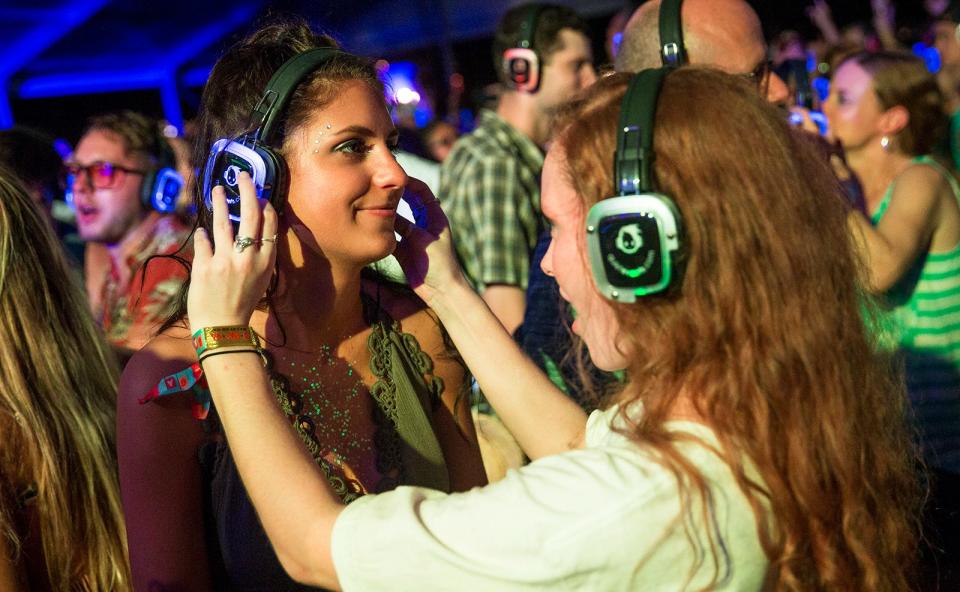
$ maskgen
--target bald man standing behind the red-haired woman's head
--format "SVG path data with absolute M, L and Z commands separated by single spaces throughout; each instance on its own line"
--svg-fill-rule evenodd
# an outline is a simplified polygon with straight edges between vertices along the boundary
M 767 100 L 786 102 L 789 90 L 769 68 L 760 19 L 749 4 L 744 0 L 683 0 L 680 10 L 683 44 L 690 63 L 749 77 Z M 660 0 L 649 0 L 633 13 L 623 30 L 615 62 L 617 71 L 638 72 L 661 65 L 659 18 Z M 536 306 L 526 308 L 516 339 L 558 386 L 589 410 L 594 402 L 579 396 L 583 385 L 574 360 L 567 355 L 570 334 L 561 319 L 569 315 L 560 309 L 556 282 L 540 269 L 549 245 L 550 237 L 545 233 L 533 254 L 526 294 L 527 302 Z M 609 380 L 599 371 L 591 369 L 591 374 L 594 382 Z

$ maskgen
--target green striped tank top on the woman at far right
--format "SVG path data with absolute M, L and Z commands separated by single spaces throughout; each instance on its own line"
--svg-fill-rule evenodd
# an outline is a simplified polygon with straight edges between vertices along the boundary
M 960 200 L 960 185 L 940 163 L 929 156 L 913 162 L 940 172 Z M 873 215 L 874 225 L 887 211 L 895 183 Z M 905 362 L 927 463 L 960 473 L 960 243 L 920 256 L 884 301 L 881 324 Z

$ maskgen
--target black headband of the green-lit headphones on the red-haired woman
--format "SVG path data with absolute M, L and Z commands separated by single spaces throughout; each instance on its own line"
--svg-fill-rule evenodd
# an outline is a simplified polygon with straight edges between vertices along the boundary
M 620 108 L 614 195 L 653 191 L 653 125 L 657 96 L 670 68 L 643 70 L 630 80 Z

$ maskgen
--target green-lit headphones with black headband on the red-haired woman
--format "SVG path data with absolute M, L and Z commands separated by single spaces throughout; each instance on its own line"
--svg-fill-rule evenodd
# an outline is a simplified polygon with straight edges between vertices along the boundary
M 630 80 L 617 129 L 616 197 L 587 213 L 590 270 L 600 293 L 616 302 L 663 292 L 679 273 L 680 210 L 653 182 L 657 96 L 671 70 L 643 70 Z

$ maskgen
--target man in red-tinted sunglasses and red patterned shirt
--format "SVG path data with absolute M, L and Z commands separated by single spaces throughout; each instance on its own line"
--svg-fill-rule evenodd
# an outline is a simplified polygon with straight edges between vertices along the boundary
M 77 230 L 87 242 L 87 295 L 107 339 L 126 354 L 145 344 L 187 276 L 175 260 L 189 228 L 151 205 L 145 186 L 172 149 L 159 122 L 132 111 L 94 117 L 64 165 Z

